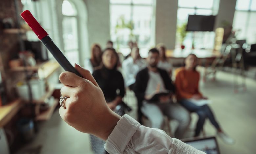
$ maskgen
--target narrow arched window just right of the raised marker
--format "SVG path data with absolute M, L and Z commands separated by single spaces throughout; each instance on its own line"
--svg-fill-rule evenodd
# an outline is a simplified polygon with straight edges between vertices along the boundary
M 77 10 L 68 0 L 62 3 L 62 37 L 64 54 L 71 64 L 79 62 Z

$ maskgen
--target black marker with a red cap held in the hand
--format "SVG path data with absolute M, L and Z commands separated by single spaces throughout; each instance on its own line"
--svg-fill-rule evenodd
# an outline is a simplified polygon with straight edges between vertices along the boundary
M 82 75 L 70 64 L 68 59 L 55 45 L 53 40 L 49 37 L 48 33 L 42 28 L 42 26 L 38 23 L 30 11 L 23 11 L 20 15 L 26 21 L 29 27 L 34 31 L 44 46 L 52 53 L 53 57 L 58 61 L 60 66 L 63 67 L 65 71 L 75 73 L 76 75 L 82 77 Z

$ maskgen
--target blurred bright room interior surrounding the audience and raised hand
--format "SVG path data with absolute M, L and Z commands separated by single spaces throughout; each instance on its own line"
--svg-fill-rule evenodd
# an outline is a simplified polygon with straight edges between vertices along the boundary
M 255 153 L 256 0 L 1 0 L 0 153 L 93 153 L 88 134 L 59 116 L 58 79 L 64 71 L 21 19 L 29 10 L 70 63 L 86 66 L 93 44 L 112 42 L 120 66 L 133 47 L 142 58 L 156 45 L 175 69 L 193 53 L 199 58 L 200 91 L 235 144 L 217 138 L 219 153 Z M 137 119 L 137 99 L 123 101 Z M 186 138 L 193 137 L 197 115 Z M 146 122 L 143 125 L 149 126 Z M 164 130 L 172 136 L 175 120 Z M 166 129 L 165 129 L 166 128 Z M 168 128 L 171 128 L 169 130 Z M 202 138 L 215 136 L 207 120 Z

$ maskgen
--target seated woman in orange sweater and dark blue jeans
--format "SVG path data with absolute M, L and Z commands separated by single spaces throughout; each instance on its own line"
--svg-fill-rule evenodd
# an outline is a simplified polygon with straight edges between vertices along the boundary
M 212 125 L 217 130 L 217 134 L 227 143 L 233 143 L 234 140 L 228 137 L 222 131 L 220 125 L 214 118 L 214 115 L 210 107 L 206 104 L 203 106 L 197 106 L 191 100 L 207 99 L 204 97 L 198 89 L 199 84 L 199 72 L 196 71 L 197 57 L 194 54 L 190 54 L 185 59 L 185 67 L 181 67 L 176 70 L 176 98 L 178 102 L 184 106 L 190 112 L 196 112 L 199 116 L 197 121 L 195 136 L 199 136 L 200 131 L 203 128 L 203 124 L 206 118 L 209 118 Z

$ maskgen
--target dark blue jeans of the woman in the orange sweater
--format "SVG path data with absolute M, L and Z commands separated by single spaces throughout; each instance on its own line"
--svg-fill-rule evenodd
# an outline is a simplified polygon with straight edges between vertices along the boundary
M 203 124 L 206 118 L 209 118 L 212 125 L 215 126 L 216 129 L 220 129 L 219 124 L 214 118 L 214 115 L 208 105 L 197 106 L 194 103 L 190 102 L 187 99 L 183 99 L 179 101 L 182 106 L 184 106 L 190 112 L 196 112 L 198 115 L 198 121 L 195 131 L 195 136 L 198 136 L 200 131 L 203 129 Z

